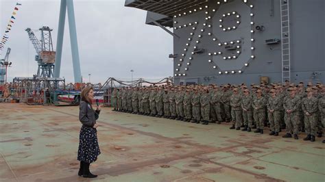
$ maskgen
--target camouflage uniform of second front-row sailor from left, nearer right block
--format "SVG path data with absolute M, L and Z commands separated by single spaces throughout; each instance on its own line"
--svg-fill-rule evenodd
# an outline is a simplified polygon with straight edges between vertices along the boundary
M 249 128 L 253 127 L 253 107 L 252 107 L 252 95 L 243 96 L 241 98 L 241 108 L 243 109 L 243 122 L 245 126 Z M 247 111 L 245 111 L 246 109 Z

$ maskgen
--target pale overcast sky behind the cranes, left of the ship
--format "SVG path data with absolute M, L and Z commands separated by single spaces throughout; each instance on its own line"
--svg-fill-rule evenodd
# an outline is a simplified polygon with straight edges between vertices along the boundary
M 60 0 L 0 0 L 0 36 L 6 26 L 16 2 L 16 20 L 8 34 L 9 40 L 0 58 L 10 47 L 8 81 L 13 77 L 32 77 L 37 72 L 34 61 L 36 51 L 29 41 L 25 29 L 30 27 L 40 39 L 42 26 L 53 29 L 53 47 L 56 49 Z M 168 58 L 173 53 L 173 38 L 160 27 L 145 25 L 144 10 L 124 7 L 124 0 L 74 0 L 77 40 L 80 64 L 84 81 L 103 83 L 108 77 L 160 79 L 172 76 L 173 62 Z M 66 18 L 60 77 L 74 81 L 69 36 Z

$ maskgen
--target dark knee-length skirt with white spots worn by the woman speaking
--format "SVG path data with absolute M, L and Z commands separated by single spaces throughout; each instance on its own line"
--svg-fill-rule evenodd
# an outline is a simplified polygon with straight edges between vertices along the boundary
M 92 163 L 97 160 L 100 154 L 97 129 L 93 127 L 82 126 L 79 135 L 78 161 Z

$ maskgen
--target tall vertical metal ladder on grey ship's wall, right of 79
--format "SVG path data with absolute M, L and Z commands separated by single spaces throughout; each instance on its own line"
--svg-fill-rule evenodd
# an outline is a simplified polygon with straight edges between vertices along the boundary
M 281 57 L 282 57 L 282 83 L 290 81 L 290 19 L 289 0 L 280 0 L 281 15 Z

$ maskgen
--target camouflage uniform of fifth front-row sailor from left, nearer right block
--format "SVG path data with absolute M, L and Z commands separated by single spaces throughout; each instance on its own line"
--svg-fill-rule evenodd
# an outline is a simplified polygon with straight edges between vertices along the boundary
M 283 102 L 283 107 L 285 109 L 285 125 L 287 133 L 293 133 L 298 135 L 299 133 L 299 115 L 298 108 L 300 106 L 300 99 L 298 96 L 291 98 L 287 96 Z M 286 111 L 291 109 L 291 113 L 288 114 Z

